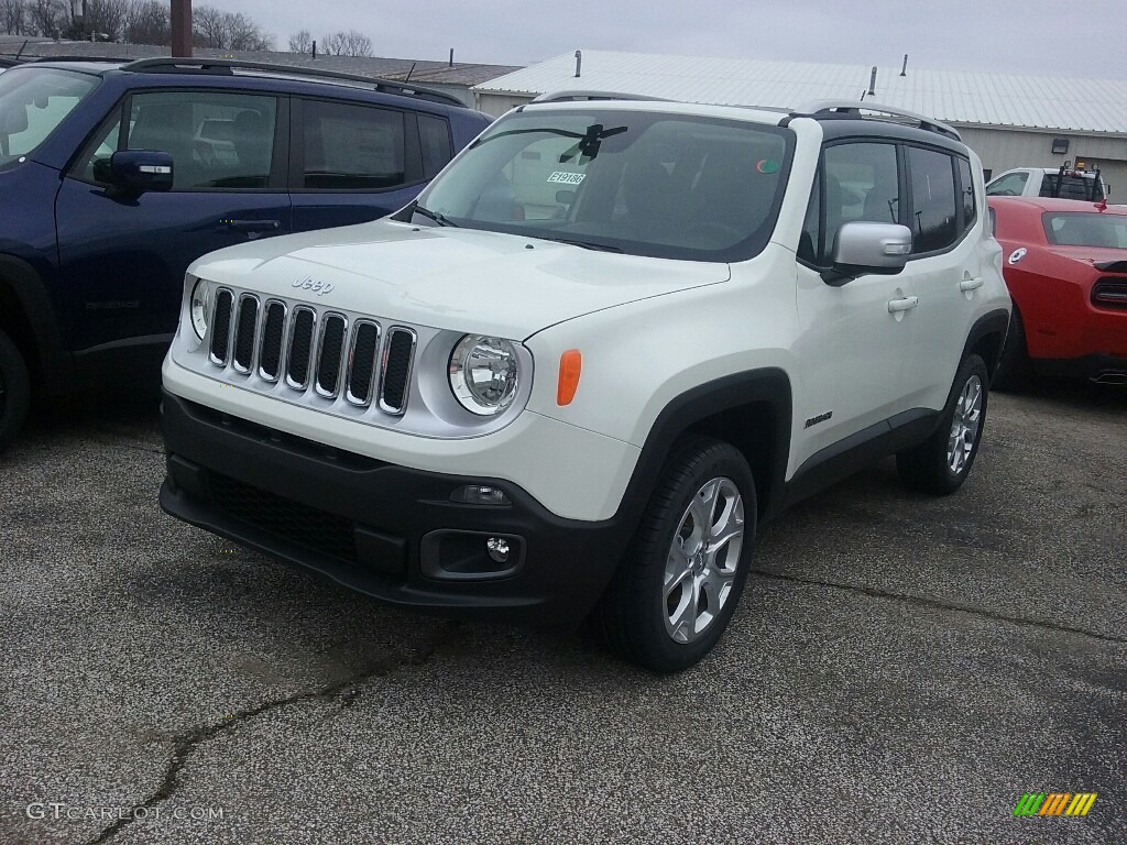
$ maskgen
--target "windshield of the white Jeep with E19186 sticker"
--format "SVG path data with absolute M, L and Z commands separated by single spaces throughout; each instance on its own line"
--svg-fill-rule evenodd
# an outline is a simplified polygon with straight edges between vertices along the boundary
M 771 237 L 792 145 L 787 130 L 744 122 L 530 109 L 478 139 L 419 196 L 414 220 L 737 260 Z

